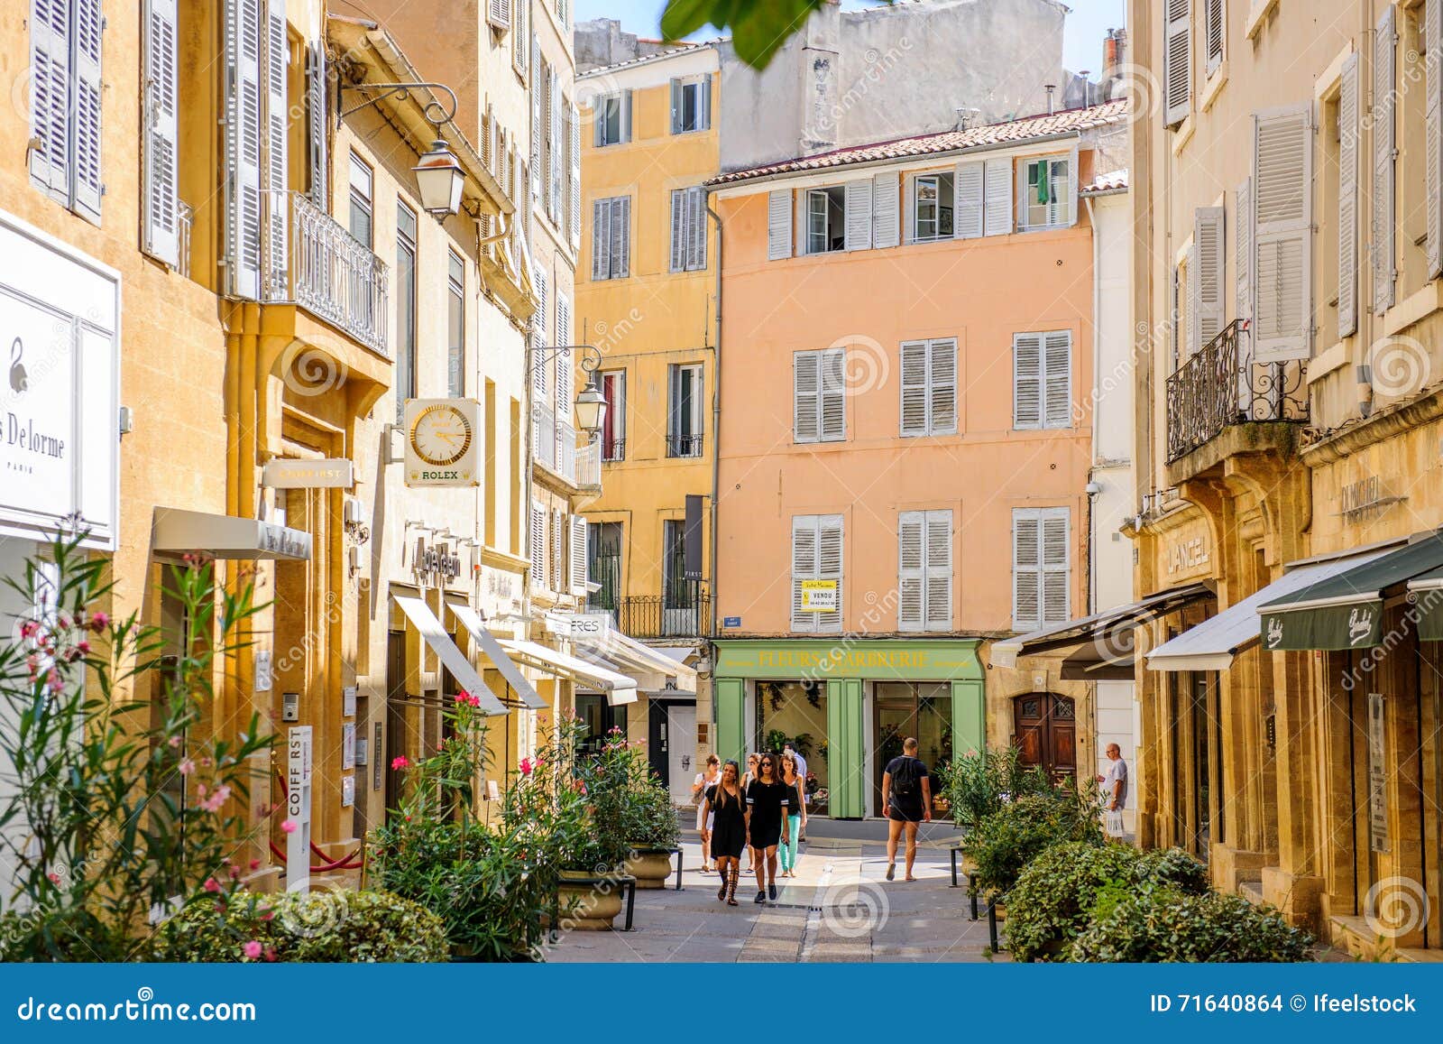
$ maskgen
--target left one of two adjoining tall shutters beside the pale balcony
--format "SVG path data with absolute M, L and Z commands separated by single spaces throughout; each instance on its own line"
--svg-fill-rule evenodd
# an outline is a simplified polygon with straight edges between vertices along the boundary
M 229 0 L 225 58 L 229 84 L 225 150 L 228 289 L 255 300 L 261 283 L 261 12 L 260 0 Z

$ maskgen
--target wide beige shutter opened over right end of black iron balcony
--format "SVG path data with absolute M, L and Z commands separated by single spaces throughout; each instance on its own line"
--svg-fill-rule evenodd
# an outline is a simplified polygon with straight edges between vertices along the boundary
M 1312 309 L 1310 107 L 1254 116 L 1253 339 L 1258 362 L 1307 358 Z

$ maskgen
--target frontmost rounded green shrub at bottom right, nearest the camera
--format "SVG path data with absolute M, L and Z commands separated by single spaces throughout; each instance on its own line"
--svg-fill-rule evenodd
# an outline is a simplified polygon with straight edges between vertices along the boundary
M 1009 910 L 1009 917 L 1010 917 Z M 1072 943 L 1082 962 L 1293 962 L 1313 940 L 1241 895 L 1156 888 L 1118 901 Z

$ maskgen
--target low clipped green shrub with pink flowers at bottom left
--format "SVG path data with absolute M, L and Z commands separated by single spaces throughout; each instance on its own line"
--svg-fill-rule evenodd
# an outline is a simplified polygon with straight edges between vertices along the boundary
M 247 944 L 258 953 L 247 953 Z M 192 902 L 156 930 L 149 959 L 418 963 L 449 953 L 440 917 L 416 902 L 390 892 L 317 889 Z

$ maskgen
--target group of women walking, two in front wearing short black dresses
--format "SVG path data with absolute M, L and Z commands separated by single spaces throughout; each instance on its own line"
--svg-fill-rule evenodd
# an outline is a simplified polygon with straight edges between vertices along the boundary
M 722 885 L 717 901 L 737 905 L 742 852 L 750 852 L 747 874 L 756 876 L 753 902 L 776 901 L 778 853 L 781 876 L 797 876 L 798 848 L 807 827 L 807 762 L 788 744 L 782 754 L 752 754 L 746 773 L 736 761 L 724 765 L 713 754 L 691 790 L 697 799 L 701 871 L 716 861 Z

